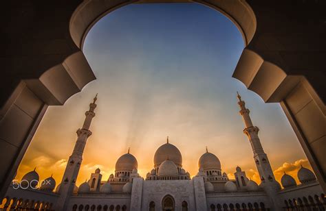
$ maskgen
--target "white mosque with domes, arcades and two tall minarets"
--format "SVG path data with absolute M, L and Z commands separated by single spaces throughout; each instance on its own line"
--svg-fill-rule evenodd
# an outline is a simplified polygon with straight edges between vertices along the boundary
M 89 104 L 83 127 L 69 157 L 61 184 L 53 177 L 39 185 L 39 174 L 30 171 L 21 182 L 13 183 L 3 199 L 4 210 L 325 210 L 325 194 L 312 171 L 301 166 L 297 173 L 301 184 L 284 173 L 276 182 L 267 154 L 259 140 L 259 128 L 252 124 L 245 102 L 237 95 L 261 183 L 248 179 L 239 166 L 235 179 L 222 171 L 215 154 L 199 158 L 195 177 L 182 167 L 182 153 L 167 138 L 153 158 L 153 169 L 146 178 L 138 174 L 138 162 L 130 151 L 120 156 L 115 172 L 102 178 L 100 169 L 76 186 L 83 160 L 89 127 L 95 116 L 96 100 Z

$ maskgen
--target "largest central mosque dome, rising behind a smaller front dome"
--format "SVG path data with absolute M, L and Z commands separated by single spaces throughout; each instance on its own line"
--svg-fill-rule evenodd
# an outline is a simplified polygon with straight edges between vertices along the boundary
M 181 153 L 179 149 L 175 147 L 175 145 L 171 145 L 169 143 L 169 139 L 167 140 L 166 144 L 158 147 L 158 149 L 155 151 L 154 168 L 160 166 L 160 164 L 168 158 L 169 160 L 172 160 L 178 167 L 182 167 Z

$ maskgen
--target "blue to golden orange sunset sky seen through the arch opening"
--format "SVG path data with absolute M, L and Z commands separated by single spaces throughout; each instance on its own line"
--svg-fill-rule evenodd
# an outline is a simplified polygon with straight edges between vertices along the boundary
M 238 165 L 259 182 L 242 132 L 237 90 L 260 129 L 276 179 L 283 170 L 296 175 L 300 164 L 311 169 L 281 106 L 264 103 L 231 77 L 242 49 L 237 27 L 204 5 L 134 4 L 111 12 L 90 30 L 83 49 L 96 81 L 65 105 L 48 108 L 16 179 L 36 166 L 41 179 L 53 173 L 57 184 L 61 182 L 76 130 L 96 93 L 93 134 L 77 185 L 97 167 L 107 180 L 128 147 L 145 177 L 166 136 L 180 149 L 191 175 L 196 175 L 207 146 L 231 178 Z

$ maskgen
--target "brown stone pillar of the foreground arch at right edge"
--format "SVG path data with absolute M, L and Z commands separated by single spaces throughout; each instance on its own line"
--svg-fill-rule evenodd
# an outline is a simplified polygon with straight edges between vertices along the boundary
M 326 106 L 306 79 L 287 95 L 281 106 L 289 119 L 319 184 L 326 190 Z

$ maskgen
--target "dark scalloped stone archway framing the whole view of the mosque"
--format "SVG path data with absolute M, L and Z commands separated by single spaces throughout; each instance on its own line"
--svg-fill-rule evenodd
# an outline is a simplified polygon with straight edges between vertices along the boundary
M 0 197 L 47 106 L 63 105 L 96 79 L 83 41 L 105 14 L 157 0 L 6 1 L 1 11 Z M 187 1 L 230 18 L 245 49 L 232 77 L 265 102 L 279 102 L 326 190 L 325 1 Z M 60 14 L 60 15 L 58 15 Z

